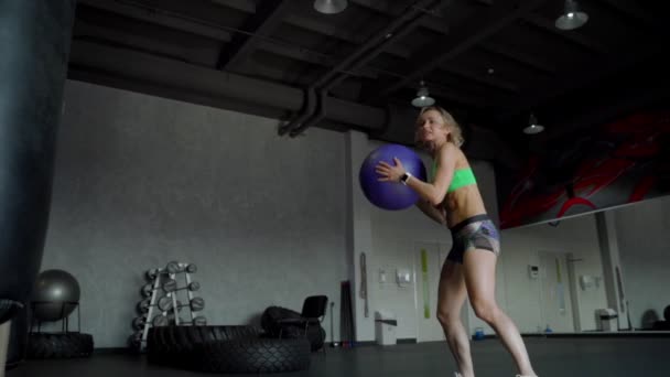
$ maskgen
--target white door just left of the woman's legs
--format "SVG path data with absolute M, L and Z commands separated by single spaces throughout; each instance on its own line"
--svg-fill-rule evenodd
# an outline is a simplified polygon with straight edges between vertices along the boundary
M 444 341 L 437 322 L 437 284 L 446 255 L 440 254 L 440 244 L 414 244 L 414 303 L 417 309 L 417 342 Z

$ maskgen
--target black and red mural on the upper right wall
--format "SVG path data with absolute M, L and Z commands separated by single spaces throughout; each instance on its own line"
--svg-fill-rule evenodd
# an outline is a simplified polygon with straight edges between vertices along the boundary
M 670 111 L 636 114 L 552 146 L 500 194 L 501 228 L 670 194 Z

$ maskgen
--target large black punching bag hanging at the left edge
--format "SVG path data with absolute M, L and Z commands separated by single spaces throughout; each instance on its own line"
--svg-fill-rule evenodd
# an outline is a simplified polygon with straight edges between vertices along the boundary
M 42 262 L 75 2 L 0 0 L 0 324 Z

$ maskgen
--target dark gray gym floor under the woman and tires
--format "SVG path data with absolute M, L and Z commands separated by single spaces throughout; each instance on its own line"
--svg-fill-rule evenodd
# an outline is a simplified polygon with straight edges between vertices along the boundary
M 541 377 L 670 376 L 670 337 L 527 337 L 536 371 Z M 511 359 L 497 340 L 473 343 L 478 377 L 514 377 Z M 309 371 L 287 377 L 452 377 L 454 363 L 445 343 L 328 348 L 312 355 Z M 88 359 L 29 360 L 7 377 L 110 376 L 171 377 L 207 374 L 150 365 L 144 357 L 96 354 Z M 248 375 L 247 375 L 248 376 Z

